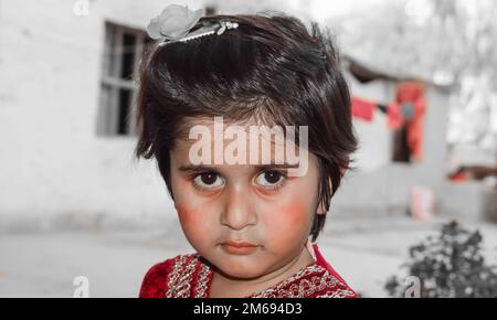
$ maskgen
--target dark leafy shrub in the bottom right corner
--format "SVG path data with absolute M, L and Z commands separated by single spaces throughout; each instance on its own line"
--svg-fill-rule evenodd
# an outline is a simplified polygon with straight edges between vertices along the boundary
M 478 231 L 469 232 L 457 222 L 451 222 L 442 227 L 438 236 L 430 236 L 411 247 L 410 258 L 403 267 L 408 269 L 408 277 L 414 276 L 420 280 L 419 296 L 497 297 L 497 268 L 485 264 L 482 242 Z M 392 276 L 387 281 L 385 289 L 390 296 L 406 296 L 411 284 L 403 284 L 400 279 Z

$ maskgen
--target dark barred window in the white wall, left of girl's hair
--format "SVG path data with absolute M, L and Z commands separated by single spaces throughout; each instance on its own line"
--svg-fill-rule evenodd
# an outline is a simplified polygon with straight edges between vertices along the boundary
M 136 134 L 135 108 L 139 62 L 151 39 L 142 30 L 106 23 L 97 132 Z

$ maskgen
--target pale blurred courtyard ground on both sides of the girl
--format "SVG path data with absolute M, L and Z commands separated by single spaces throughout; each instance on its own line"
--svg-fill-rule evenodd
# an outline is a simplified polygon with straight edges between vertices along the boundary
M 408 247 L 441 223 L 405 216 L 329 216 L 318 246 L 325 258 L 364 297 L 384 297 L 385 279 L 399 274 Z M 497 225 L 479 228 L 485 256 L 496 263 Z M 147 269 L 192 248 L 175 223 L 148 231 L 57 231 L 0 234 L 0 297 L 73 297 L 73 280 L 85 276 L 91 297 L 136 297 Z

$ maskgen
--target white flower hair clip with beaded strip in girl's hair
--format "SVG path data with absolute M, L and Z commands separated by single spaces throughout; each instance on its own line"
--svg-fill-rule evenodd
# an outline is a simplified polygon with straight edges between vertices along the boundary
M 162 41 L 159 46 L 187 42 L 205 35 L 221 35 L 224 31 L 239 28 L 239 23 L 231 21 L 205 21 L 203 26 L 190 32 L 203 15 L 203 10 L 191 11 L 188 7 L 168 6 L 160 15 L 150 20 L 147 33 L 151 39 Z

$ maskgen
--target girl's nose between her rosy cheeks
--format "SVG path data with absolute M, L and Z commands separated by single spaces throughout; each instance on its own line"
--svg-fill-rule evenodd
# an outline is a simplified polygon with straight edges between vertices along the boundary
M 239 184 L 226 191 L 221 224 L 236 231 L 255 225 L 257 215 L 248 190 Z

